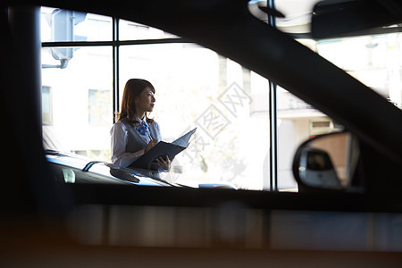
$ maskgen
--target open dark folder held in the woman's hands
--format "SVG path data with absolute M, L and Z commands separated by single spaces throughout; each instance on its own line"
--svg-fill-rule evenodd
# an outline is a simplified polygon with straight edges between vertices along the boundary
M 129 168 L 140 168 L 145 170 L 155 169 L 155 164 L 152 162 L 158 156 L 168 155 L 169 159 L 172 159 L 174 156 L 178 155 L 181 151 L 188 147 L 188 140 L 191 136 L 196 132 L 197 128 L 194 130 L 188 131 L 186 134 L 181 136 L 180 138 L 172 141 L 171 143 L 160 141 L 155 147 L 152 147 L 147 153 L 138 157 L 136 161 L 130 163 Z

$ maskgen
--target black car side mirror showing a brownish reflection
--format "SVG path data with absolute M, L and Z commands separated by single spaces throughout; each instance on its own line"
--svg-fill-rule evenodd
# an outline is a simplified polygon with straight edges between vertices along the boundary
M 298 147 L 293 160 L 299 191 L 347 189 L 359 155 L 358 142 L 348 132 L 310 138 Z

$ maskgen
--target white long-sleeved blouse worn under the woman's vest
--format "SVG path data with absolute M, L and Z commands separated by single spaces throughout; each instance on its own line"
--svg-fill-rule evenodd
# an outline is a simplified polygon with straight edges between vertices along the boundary
M 139 118 L 137 120 L 139 122 L 142 121 Z M 158 132 L 160 133 L 161 131 L 159 130 L 158 123 L 154 121 L 154 124 L 155 129 L 158 130 Z M 122 167 L 128 167 L 130 163 L 133 163 L 139 156 L 145 154 L 145 148 L 134 153 L 126 152 L 126 145 L 129 134 L 123 122 L 117 121 L 116 123 L 114 123 L 112 129 L 110 130 L 110 135 L 112 163 L 120 165 Z M 140 136 L 147 144 L 149 143 L 150 138 L 148 136 Z

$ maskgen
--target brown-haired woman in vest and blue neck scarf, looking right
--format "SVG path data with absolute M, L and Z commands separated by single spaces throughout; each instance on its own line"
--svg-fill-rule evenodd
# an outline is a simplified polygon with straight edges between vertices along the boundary
M 131 79 L 124 87 L 121 113 L 113 125 L 112 163 L 128 167 L 139 156 L 144 155 L 161 140 L 159 125 L 147 117 L 154 110 L 155 88 L 147 80 Z M 156 158 L 163 170 L 169 170 L 171 160 Z

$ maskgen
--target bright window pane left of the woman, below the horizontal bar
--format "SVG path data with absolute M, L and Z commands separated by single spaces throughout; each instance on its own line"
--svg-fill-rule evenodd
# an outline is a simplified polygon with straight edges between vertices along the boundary
M 108 46 L 74 47 L 66 68 L 43 68 L 42 83 L 52 88 L 51 125 L 44 126 L 49 149 L 100 155 L 110 161 L 113 125 L 113 61 Z M 52 47 L 42 48 L 42 64 L 57 65 Z M 100 88 L 100 89 L 94 89 Z

